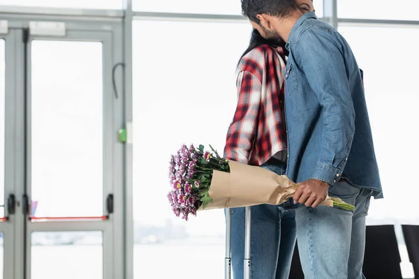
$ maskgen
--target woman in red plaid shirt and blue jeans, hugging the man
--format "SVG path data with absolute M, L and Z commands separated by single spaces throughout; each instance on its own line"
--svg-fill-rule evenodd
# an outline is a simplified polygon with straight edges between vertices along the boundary
M 313 11 L 310 0 L 296 0 Z M 286 171 L 284 119 L 284 42 L 265 40 L 253 30 L 237 66 L 238 103 L 228 129 L 224 158 L 259 165 L 277 174 Z M 255 186 L 257 187 L 257 186 Z M 251 278 L 287 279 L 295 246 L 293 202 L 251 207 Z M 233 276 L 243 278 L 245 209 L 232 209 Z

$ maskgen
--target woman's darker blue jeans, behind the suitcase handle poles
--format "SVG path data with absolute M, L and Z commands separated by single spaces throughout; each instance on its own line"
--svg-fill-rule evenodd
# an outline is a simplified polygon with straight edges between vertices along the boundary
M 277 174 L 285 166 L 262 165 Z M 255 186 L 257 187 L 257 186 Z M 295 246 L 295 211 L 292 202 L 280 206 L 261 204 L 251 206 L 251 278 L 288 279 Z M 234 279 L 243 279 L 244 207 L 231 209 L 231 261 Z

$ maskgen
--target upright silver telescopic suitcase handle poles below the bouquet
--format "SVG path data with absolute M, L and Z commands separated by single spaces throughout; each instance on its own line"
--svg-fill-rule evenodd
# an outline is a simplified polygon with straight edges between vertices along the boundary
M 244 225 L 244 279 L 250 279 L 250 220 L 251 207 L 246 207 L 246 223 Z M 231 209 L 226 214 L 226 257 L 224 260 L 224 278 L 231 279 Z

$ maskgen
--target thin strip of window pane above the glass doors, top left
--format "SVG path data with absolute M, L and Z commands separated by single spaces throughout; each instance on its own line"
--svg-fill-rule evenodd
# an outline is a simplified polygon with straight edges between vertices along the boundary
M 0 5 L 30 6 L 48 8 L 93 8 L 115 9 L 122 8 L 122 0 L 0 0 Z

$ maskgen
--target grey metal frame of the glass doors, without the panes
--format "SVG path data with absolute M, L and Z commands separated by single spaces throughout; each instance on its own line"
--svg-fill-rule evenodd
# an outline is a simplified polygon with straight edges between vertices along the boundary
M 1 13 L 0 13 L 1 15 Z M 125 231 L 124 231 L 124 143 L 118 141 L 118 131 L 124 128 L 124 68 L 115 69 L 113 91 L 112 68 L 122 63 L 123 20 L 119 15 L 102 17 L 86 15 L 66 17 L 63 15 L 13 14 L 1 15 L 8 20 L 6 38 L 6 153 L 5 199 L 15 193 L 17 208 L 10 221 L 0 223 L 5 233 L 4 276 L 5 278 L 29 279 L 31 276 L 31 232 L 103 232 L 103 279 L 124 278 Z M 30 36 L 25 54 L 24 30 L 30 21 L 65 22 L 65 37 Z M 26 193 L 31 197 L 31 108 L 30 86 L 25 90 L 24 80 L 30 84 L 31 40 L 83 40 L 103 43 L 103 213 L 106 197 L 114 197 L 114 212 L 104 221 L 52 221 L 32 223 L 23 212 Z M 27 63 L 25 65 L 25 55 Z M 122 65 L 123 66 L 123 65 Z M 25 69 L 27 69 L 25 73 Z M 25 96 L 27 92 L 27 96 Z M 25 156 L 26 155 L 26 156 Z M 6 201 L 5 201 L 6 202 Z M 5 212 L 5 214 L 7 214 Z M 7 227 L 7 229 L 3 229 Z M 14 252 L 14 255 L 13 255 Z M 24 264 L 26 262 L 26 264 Z

